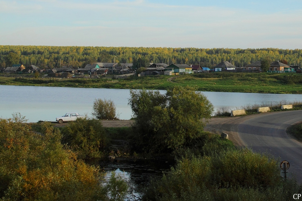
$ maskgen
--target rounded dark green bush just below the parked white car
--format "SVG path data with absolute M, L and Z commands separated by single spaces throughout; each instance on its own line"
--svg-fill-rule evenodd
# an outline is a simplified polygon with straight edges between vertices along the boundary
M 63 129 L 63 143 L 78 154 L 78 158 L 100 158 L 106 145 L 106 133 L 101 122 L 78 118 Z

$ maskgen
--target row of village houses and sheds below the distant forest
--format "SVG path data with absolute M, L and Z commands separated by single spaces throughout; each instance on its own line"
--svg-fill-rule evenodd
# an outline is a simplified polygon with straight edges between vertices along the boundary
M 118 77 L 136 75 L 137 76 L 149 76 L 149 75 L 179 75 L 179 74 L 191 74 L 191 73 L 206 73 L 206 72 L 262 72 L 261 62 L 257 61 L 252 64 L 248 64 L 243 68 L 238 68 L 228 61 L 222 61 L 215 65 L 212 69 L 201 67 L 200 65 L 188 65 L 188 64 L 164 64 L 164 63 L 150 63 L 146 68 L 142 68 L 136 72 L 137 69 L 133 69 L 133 63 L 102 63 L 96 62 L 92 64 L 86 64 L 84 68 L 76 68 L 74 66 L 62 66 L 61 68 L 39 68 L 35 65 L 25 67 L 22 64 L 14 64 L 11 67 L 0 69 L 3 73 L 39 73 L 51 74 L 51 73 L 70 73 L 75 75 L 106 75 L 114 74 Z M 301 73 L 299 66 L 288 66 L 279 61 L 271 61 L 270 67 L 267 72 L 273 73 Z

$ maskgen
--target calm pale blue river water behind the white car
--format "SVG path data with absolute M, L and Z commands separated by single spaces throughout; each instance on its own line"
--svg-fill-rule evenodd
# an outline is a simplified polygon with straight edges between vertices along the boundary
M 160 92 L 165 93 L 165 90 Z M 214 111 L 217 108 L 240 109 L 246 105 L 302 101 L 302 94 L 202 93 L 212 102 Z M 92 117 L 95 99 L 111 99 L 119 118 L 130 119 L 132 111 L 128 105 L 129 98 L 128 89 L 0 85 L 0 117 L 11 118 L 15 112 L 20 112 L 28 122 L 55 121 L 56 117 L 66 112 Z

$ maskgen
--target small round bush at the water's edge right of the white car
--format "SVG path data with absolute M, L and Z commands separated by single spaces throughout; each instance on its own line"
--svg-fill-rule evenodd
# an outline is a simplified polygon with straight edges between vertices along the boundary
M 117 119 L 116 106 L 112 100 L 95 99 L 92 115 L 97 119 Z

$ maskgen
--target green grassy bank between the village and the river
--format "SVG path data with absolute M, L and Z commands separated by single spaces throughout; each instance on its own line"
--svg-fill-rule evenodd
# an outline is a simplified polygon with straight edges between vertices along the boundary
M 118 82 L 108 82 L 107 78 L 28 78 L 0 77 L 2 85 L 30 85 L 30 86 L 62 86 L 86 88 L 113 89 L 153 89 L 166 90 L 170 86 L 197 86 L 200 91 L 216 92 L 246 92 L 246 93 L 302 93 L 302 75 L 293 73 L 230 73 L 215 72 L 189 74 L 177 76 L 172 82 L 171 76 L 144 76 L 118 79 Z

